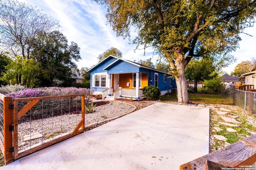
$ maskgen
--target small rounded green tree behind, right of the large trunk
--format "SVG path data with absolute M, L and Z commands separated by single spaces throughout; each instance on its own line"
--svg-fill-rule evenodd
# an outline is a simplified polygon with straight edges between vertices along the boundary
M 214 71 L 215 66 L 211 59 L 192 59 L 185 68 L 185 75 L 188 80 L 194 81 L 194 92 L 197 92 L 197 83 L 216 76 Z

